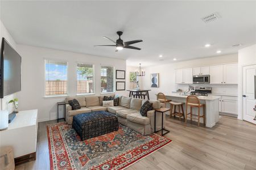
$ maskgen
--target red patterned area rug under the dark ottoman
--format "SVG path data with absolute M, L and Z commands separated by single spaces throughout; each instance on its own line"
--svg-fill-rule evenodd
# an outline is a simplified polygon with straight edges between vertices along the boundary
M 51 169 L 123 169 L 171 142 L 158 134 L 143 136 L 119 124 L 119 130 L 81 141 L 64 122 L 48 125 Z

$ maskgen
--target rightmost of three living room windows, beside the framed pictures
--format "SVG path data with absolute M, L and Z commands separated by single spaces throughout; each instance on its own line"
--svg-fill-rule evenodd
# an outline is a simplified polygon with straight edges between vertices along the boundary
M 101 92 L 114 92 L 114 67 L 101 66 Z

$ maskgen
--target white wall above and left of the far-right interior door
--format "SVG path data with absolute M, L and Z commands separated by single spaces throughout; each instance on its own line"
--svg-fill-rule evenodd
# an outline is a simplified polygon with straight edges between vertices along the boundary
M 256 64 L 256 44 L 238 50 L 238 118 L 242 120 L 243 66 Z

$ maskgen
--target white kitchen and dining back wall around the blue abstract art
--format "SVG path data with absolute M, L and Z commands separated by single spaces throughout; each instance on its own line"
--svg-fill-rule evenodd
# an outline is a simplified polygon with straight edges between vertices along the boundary
M 229 54 L 225 56 L 209 57 L 209 58 L 200 58 L 193 59 L 189 61 L 181 61 L 175 63 L 167 63 L 164 65 L 149 66 L 144 67 L 146 71 L 146 76 L 142 78 L 142 88 L 150 89 L 150 99 L 156 99 L 155 94 L 158 92 L 163 92 L 164 94 L 170 94 L 172 91 L 176 91 L 178 88 L 187 89 L 188 85 L 185 84 L 175 84 L 175 69 L 182 68 L 192 68 L 192 67 L 201 67 L 201 66 L 210 66 L 218 65 L 222 63 L 233 63 L 237 62 L 237 54 Z M 159 73 L 159 88 L 150 87 L 150 74 Z M 203 86 L 203 85 L 202 85 Z M 220 85 L 207 85 L 212 86 L 214 91 L 219 93 L 225 91 L 229 93 L 237 94 L 237 85 L 225 85 L 221 87 Z M 230 90 L 231 89 L 231 90 Z

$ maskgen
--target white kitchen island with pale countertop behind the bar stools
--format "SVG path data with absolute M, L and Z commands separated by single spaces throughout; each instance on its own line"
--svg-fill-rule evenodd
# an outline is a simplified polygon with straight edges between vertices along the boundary
M 172 101 L 179 101 L 186 103 L 187 95 L 182 95 L 183 93 L 172 92 L 171 94 L 167 94 L 166 98 Z M 218 99 L 220 96 L 197 96 L 200 100 L 201 104 L 205 104 L 205 126 L 208 128 L 212 128 L 218 122 Z M 185 104 L 184 104 L 184 112 L 185 112 Z M 190 112 L 190 108 L 188 108 L 188 113 Z M 193 113 L 197 113 L 197 108 L 193 108 Z M 185 113 L 184 113 L 185 114 Z M 201 108 L 200 114 L 203 114 L 203 108 Z M 190 117 L 188 117 L 189 120 Z M 203 123 L 203 118 L 200 119 L 200 122 Z

